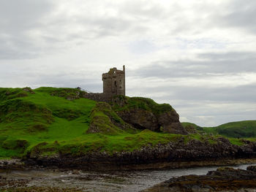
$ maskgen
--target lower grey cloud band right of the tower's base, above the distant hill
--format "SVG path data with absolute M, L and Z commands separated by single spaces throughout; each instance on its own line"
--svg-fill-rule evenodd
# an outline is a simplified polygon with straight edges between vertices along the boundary
M 158 85 L 155 88 L 133 88 L 133 91 L 140 91 L 141 94 L 159 93 L 159 96 L 154 96 L 155 99 L 169 100 L 181 99 L 184 101 L 225 101 L 229 102 L 255 102 L 256 84 L 240 85 L 238 87 L 216 87 L 208 88 L 206 86 L 195 85 L 189 87 L 186 85 Z M 129 91 L 127 91 L 129 92 Z M 165 95 L 161 96 L 164 92 Z

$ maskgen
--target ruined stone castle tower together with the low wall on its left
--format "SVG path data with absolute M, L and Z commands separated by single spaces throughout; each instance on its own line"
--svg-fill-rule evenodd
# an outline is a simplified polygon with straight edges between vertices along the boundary
M 125 96 L 125 66 L 123 70 L 113 67 L 102 74 L 103 93 L 87 93 L 86 98 L 94 101 L 111 101 L 113 96 Z

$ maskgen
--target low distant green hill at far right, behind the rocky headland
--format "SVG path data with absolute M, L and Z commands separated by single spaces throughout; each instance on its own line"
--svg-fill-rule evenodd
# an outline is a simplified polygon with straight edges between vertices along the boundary
M 181 123 L 184 127 L 192 127 L 197 131 L 211 134 L 220 134 L 232 138 L 254 138 L 256 137 L 256 120 L 243 120 L 225 123 L 216 127 L 200 127 L 195 123 Z

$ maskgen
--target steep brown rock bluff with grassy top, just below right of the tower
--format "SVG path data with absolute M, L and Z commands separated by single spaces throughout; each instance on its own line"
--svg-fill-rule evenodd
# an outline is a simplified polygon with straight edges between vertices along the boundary
M 151 99 L 117 97 L 113 99 L 116 113 L 135 128 L 188 134 L 181 126 L 178 113 L 169 104 L 157 104 Z

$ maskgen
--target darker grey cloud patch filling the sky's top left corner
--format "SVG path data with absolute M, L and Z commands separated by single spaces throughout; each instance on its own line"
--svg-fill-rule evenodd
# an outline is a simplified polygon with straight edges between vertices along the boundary
M 41 20 L 53 5 L 49 1 L 1 1 L 0 59 L 34 58 L 40 52 L 29 32 L 42 26 Z

